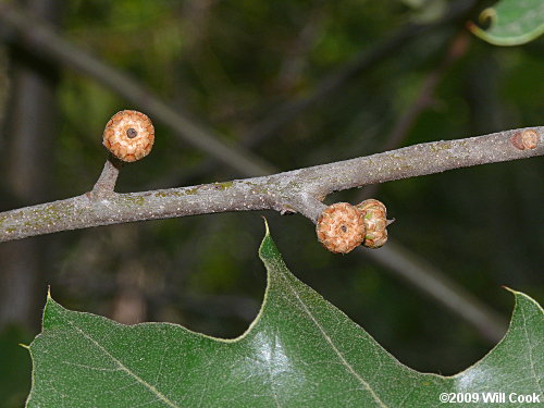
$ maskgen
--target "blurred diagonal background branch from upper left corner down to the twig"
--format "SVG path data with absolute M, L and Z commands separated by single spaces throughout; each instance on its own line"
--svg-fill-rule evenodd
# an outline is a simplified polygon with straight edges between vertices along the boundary
M 261 159 L 242 147 L 222 143 L 180 108 L 174 111 L 138 82 L 66 41 L 36 15 L 12 4 L 0 3 L 0 33 L 9 41 L 13 39 L 45 58 L 91 76 L 157 121 L 168 124 L 184 141 L 213 156 L 240 174 L 268 173 L 268 166 Z

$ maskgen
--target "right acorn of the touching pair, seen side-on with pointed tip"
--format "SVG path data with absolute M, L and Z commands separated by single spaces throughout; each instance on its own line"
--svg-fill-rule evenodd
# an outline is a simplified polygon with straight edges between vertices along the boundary
M 364 223 L 364 240 L 362 245 L 368 248 L 380 248 L 387 242 L 387 209 L 383 202 L 370 198 L 356 206 Z

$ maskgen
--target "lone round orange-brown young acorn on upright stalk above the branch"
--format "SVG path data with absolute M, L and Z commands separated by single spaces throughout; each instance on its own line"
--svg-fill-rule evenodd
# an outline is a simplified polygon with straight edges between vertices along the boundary
M 154 128 L 151 120 L 138 111 L 115 113 L 103 131 L 103 145 L 118 159 L 139 160 L 151 151 Z

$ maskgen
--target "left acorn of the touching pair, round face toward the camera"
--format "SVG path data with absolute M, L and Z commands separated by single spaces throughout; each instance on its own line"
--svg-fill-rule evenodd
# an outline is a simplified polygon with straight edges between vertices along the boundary
M 347 254 L 364 239 L 362 213 L 348 202 L 336 202 L 319 215 L 316 232 L 331 252 Z

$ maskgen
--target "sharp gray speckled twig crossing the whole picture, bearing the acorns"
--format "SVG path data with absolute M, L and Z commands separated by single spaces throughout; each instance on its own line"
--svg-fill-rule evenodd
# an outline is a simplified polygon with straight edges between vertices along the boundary
M 530 136 L 529 147 L 521 135 Z M 316 222 L 332 191 L 544 154 L 544 126 L 405 147 L 262 177 L 96 194 L 0 213 L 0 242 L 124 222 L 227 211 L 298 212 Z M 107 165 L 107 168 L 109 168 Z M 113 170 L 113 169 L 112 169 Z M 97 198 L 98 197 L 98 198 Z

